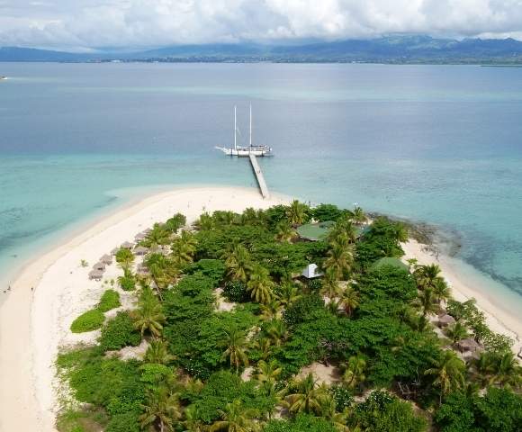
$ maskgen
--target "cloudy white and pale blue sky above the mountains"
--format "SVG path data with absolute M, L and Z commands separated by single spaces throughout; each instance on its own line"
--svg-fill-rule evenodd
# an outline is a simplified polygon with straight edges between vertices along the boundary
M 392 33 L 522 40 L 522 0 L 0 0 L 0 46 L 89 51 Z

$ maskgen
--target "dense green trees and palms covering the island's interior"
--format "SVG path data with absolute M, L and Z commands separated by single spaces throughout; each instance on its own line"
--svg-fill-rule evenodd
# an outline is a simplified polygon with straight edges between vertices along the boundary
M 311 220 L 331 220 L 328 234 L 297 238 Z M 58 356 L 81 402 L 58 430 L 520 430 L 509 339 L 451 299 L 438 266 L 401 263 L 404 225 L 365 221 L 359 208 L 292 202 L 204 213 L 193 231 L 179 214 L 155 225 L 143 244 L 170 253 L 150 252 L 148 274 L 116 256 L 133 308 L 103 324 L 120 305 L 107 290 L 73 323 L 102 330 L 95 347 Z M 299 276 L 311 263 L 323 275 Z M 443 305 L 456 322 L 439 337 Z M 475 356 L 459 351 L 469 338 Z

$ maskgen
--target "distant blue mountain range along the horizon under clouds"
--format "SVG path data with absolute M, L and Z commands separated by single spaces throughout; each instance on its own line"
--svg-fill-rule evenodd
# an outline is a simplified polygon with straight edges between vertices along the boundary
M 70 53 L 17 47 L 0 48 L 0 61 L 165 61 L 165 62 L 362 62 L 394 64 L 522 65 L 522 41 L 514 39 L 434 39 L 391 36 L 302 45 L 256 43 L 176 45 L 136 52 Z

